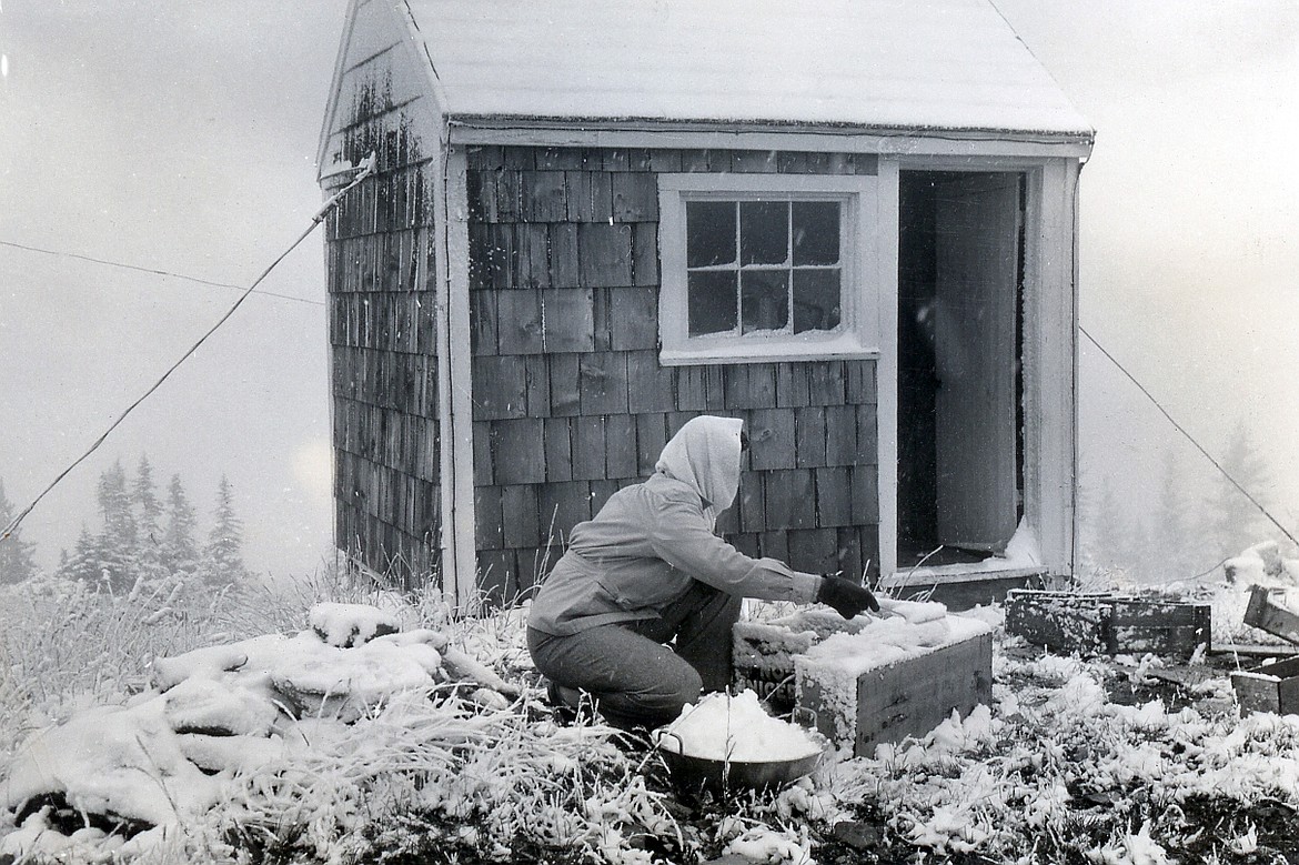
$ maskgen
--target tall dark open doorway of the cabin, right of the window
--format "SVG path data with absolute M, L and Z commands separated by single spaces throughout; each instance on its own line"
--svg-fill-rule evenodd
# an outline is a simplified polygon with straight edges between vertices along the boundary
M 1022 516 L 1024 196 L 1017 171 L 900 174 L 899 569 L 1000 553 Z

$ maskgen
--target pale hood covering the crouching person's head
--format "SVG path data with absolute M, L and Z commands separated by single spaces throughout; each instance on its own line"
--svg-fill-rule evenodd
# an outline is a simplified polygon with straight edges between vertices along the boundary
M 731 507 L 739 490 L 739 434 L 744 422 L 733 417 L 703 414 L 686 422 L 672 436 L 655 464 L 655 470 L 681 481 L 704 501 L 704 516 L 717 522 L 717 514 Z

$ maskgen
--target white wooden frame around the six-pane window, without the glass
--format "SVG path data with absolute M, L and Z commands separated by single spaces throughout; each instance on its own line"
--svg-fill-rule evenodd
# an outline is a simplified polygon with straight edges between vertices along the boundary
M 744 364 L 773 360 L 878 357 L 879 303 L 887 291 L 881 252 L 878 175 L 865 174 L 660 174 L 659 175 L 659 360 L 665 366 Z M 840 203 L 840 310 L 834 331 L 801 334 L 690 335 L 686 204 L 721 201 Z

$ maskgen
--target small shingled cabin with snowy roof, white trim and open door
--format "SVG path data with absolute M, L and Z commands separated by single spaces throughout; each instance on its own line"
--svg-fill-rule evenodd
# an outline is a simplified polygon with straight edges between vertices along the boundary
M 712 413 L 750 553 L 1070 574 L 1092 138 L 987 0 L 352 0 L 338 545 L 508 599 Z

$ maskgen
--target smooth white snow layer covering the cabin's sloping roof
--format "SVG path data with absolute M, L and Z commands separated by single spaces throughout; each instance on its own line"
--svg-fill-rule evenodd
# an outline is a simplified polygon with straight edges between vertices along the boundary
M 408 0 L 452 118 L 1090 136 L 989 0 Z

